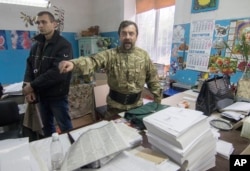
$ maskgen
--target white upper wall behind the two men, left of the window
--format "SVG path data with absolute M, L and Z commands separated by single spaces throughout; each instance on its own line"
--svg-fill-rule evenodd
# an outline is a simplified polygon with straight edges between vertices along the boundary
M 116 31 L 123 19 L 135 15 L 135 0 L 51 0 L 51 3 L 65 10 L 64 32 L 79 32 L 94 25 L 99 25 L 101 32 Z M 1 4 L 0 29 L 37 30 L 36 26 L 25 27 L 20 12 L 36 16 L 39 11 L 53 9 Z

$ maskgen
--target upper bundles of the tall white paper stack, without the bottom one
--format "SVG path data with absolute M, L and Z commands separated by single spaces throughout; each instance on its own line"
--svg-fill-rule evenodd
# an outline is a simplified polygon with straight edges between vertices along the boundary
M 202 112 L 178 107 L 163 109 L 145 117 L 143 122 L 148 132 L 181 149 L 210 128 L 207 116 Z

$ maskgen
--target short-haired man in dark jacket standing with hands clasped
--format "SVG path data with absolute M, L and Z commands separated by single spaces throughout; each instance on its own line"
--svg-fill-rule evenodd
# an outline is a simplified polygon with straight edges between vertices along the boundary
M 72 128 L 68 109 L 71 73 L 60 74 L 58 63 L 73 57 L 71 44 L 55 30 L 57 23 L 48 11 L 39 12 L 36 24 L 40 32 L 27 59 L 23 93 L 29 103 L 38 102 L 44 135 Z

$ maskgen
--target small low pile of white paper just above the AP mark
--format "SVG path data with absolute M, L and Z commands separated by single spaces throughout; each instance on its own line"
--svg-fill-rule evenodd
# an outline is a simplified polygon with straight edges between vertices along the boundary
M 218 140 L 216 143 L 216 152 L 221 157 L 228 159 L 230 155 L 233 153 L 234 147 L 232 143 L 229 143 L 224 140 Z

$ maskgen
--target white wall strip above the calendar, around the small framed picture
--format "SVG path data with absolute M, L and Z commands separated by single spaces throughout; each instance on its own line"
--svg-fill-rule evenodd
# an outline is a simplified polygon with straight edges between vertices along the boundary
M 205 19 L 234 19 L 250 17 L 250 0 L 219 0 L 217 10 L 191 13 L 192 0 L 176 0 L 175 24 Z

